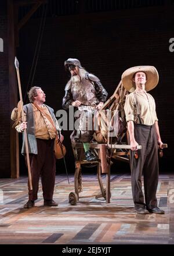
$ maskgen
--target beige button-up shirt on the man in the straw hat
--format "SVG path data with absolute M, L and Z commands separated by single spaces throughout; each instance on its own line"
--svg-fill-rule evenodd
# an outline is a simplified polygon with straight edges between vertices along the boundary
M 139 105 L 140 119 L 142 124 L 153 125 L 155 121 L 158 121 L 155 110 L 155 100 L 152 95 L 146 93 L 146 91 L 138 92 L 135 90 L 126 97 L 124 109 L 127 122 L 132 120 L 135 123 L 140 123 L 139 119 L 137 118 L 136 101 Z

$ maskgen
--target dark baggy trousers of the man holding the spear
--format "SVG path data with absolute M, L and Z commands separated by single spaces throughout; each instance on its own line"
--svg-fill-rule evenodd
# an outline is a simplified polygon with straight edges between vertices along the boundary
M 52 200 L 53 198 L 56 176 L 56 158 L 53 151 L 54 142 L 55 140 L 41 140 L 37 138 L 38 155 L 30 154 L 32 179 L 32 190 L 28 192 L 30 200 L 37 200 L 38 198 L 40 175 L 44 200 Z M 27 157 L 25 158 L 27 164 Z

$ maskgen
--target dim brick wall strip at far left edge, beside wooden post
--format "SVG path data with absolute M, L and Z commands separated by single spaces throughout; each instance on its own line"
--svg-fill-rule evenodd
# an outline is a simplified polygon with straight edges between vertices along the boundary
M 0 2 L 0 38 L 3 52 L 0 52 L 0 177 L 10 177 L 10 114 L 8 80 L 8 45 L 6 1 Z

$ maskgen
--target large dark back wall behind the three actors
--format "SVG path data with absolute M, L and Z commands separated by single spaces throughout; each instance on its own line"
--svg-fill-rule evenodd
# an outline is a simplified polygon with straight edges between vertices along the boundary
M 55 111 L 61 108 L 68 76 L 64 71 L 67 58 L 78 58 L 82 66 L 100 77 L 109 95 L 114 93 L 121 74 L 136 65 L 154 65 L 160 73 L 160 83 L 151 91 L 157 104 L 161 137 L 168 143 L 163 171 L 171 169 L 173 157 L 173 76 L 174 52 L 169 52 L 173 35 L 173 10 L 162 7 L 118 10 L 83 16 L 62 16 L 46 19 L 41 52 L 34 84 L 42 86 L 46 102 Z M 31 19 L 20 31 L 21 81 L 26 90 L 32 56 L 37 40 L 39 20 Z M 64 131 L 68 166 L 72 170 L 73 152 L 70 131 Z M 60 170 L 61 161 L 57 163 Z M 121 165 L 119 163 L 119 165 Z M 166 168 L 165 168 L 166 167 Z M 124 168 L 126 169 L 125 165 Z M 128 167 L 129 169 L 129 167 Z

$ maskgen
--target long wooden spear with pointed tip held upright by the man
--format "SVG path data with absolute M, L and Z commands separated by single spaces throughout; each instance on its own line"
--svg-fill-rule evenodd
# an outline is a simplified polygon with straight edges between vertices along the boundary
M 18 86 L 19 86 L 19 96 L 20 96 L 22 120 L 23 120 L 23 122 L 26 122 L 26 120 L 24 119 L 23 96 L 21 94 L 21 84 L 20 84 L 20 75 L 19 75 L 19 61 L 17 61 L 16 57 L 15 57 L 15 60 L 14 60 L 14 65 L 16 67 L 16 72 L 17 72 L 17 80 L 18 80 Z M 29 186 L 30 186 L 30 190 L 32 190 L 31 169 L 30 169 L 30 159 L 29 159 L 29 152 L 28 152 L 28 140 L 27 140 L 27 131 L 26 131 L 26 129 L 24 129 L 24 140 L 25 140 L 25 144 L 26 144 L 26 153 L 27 153 Z

